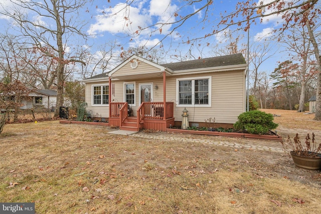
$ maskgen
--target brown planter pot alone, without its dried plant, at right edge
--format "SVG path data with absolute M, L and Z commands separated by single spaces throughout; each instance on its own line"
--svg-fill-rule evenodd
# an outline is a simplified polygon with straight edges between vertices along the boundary
M 316 157 L 297 155 L 294 151 L 291 151 L 290 154 L 297 167 L 310 170 L 321 169 L 321 154 L 316 154 Z

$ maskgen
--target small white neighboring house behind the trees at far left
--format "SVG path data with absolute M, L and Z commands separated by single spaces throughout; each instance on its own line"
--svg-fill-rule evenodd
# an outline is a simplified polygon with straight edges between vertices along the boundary
M 56 106 L 57 91 L 49 89 L 34 89 L 29 93 L 31 100 L 23 100 L 24 106 L 21 109 L 47 108 L 52 109 Z

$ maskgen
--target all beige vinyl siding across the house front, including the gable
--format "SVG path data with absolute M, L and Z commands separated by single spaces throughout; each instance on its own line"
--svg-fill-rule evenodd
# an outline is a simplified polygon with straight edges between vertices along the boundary
M 156 70 L 148 64 L 139 64 L 136 69 L 131 69 L 127 64 L 117 72 L 119 74 L 128 74 L 128 72 L 150 72 Z M 158 70 L 159 71 L 159 70 Z M 225 71 L 215 73 L 203 73 L 197 75 L 176 75 L 166 77 L 166 101 L 174 102 L 174 117 L 176 121 L 182 121 L 182 111 L 185 107 L 177 106 L 177 79 L 190 78 L 198 79 L 200 77 L 211 77 L 211 106 L 188 106 L 190 122 L 205 122 L 208 118 L 214 118 L 217 123 L 233 124 L 237 121 L 239 114 L 245 111 L 245 75 L 244 71 Z M 147 78 L 147 77 L 146 77 Z M 153 84 L 153 102 L 163 102 L 163 77 L 156 79 L 133 79 L 130 81 L 112 81 L 114 84 L 114 94 L 111 96 L 112 102 L 124 102 L 124 83 L 135 83 L 135 106 L 132 106 L 134 116 L 139 107 L 139 84 Z M 92 106 L 92 85 L 108 84 L 108 80 L 97 83 L 86 84 L 86 102 L 88 110 L 92 114 L 108 117 L 108 106 Z M 157 85 L 157 90 L 155 89 Z

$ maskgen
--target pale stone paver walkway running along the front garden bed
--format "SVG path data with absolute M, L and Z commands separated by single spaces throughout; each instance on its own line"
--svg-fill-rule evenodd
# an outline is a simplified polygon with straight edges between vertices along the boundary
M 158 140 L 172 140 L 172 141 L 183 141 L 183 142 L 193 142 L 193 143 L 207 143 L 218 146 L 226 146 L 233 148 L 246 148 L 253 150 L 261 150 L 261 151 L 272 151 L 272 152 L 283 152 L 282 148 L 278 147 L 268 147 L 268 146 L 256 146 L 256 145 L 243 145 L 239 143 L 231 143 L 224 141 L 213 141 L 214 139 L 198 139 L 198 138 L 189 138 L 183 136 L 174 136 L 174 135 L 153 135 L 150 133 L 138 132 L 131 134 L 130 136 L 141 137 L 146 139 L 158 139 Z

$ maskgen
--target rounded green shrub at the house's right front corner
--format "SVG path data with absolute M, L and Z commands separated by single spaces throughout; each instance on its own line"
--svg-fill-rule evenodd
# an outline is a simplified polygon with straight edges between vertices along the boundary
M 269 129 L 275 129 L 278 124 L 273 122 L 273 115 L 262 111 L 254 110 L 244 112 L 238 116 L 234 129 L 246 130 L 250 134 L 267 134 Z

